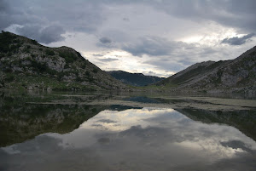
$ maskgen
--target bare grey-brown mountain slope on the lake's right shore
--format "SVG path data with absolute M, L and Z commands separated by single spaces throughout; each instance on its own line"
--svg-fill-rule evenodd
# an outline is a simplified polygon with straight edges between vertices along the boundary
M 256 47 L 235 60 L 207 61 L 166 78 L 156 87 L 204 92 L 256 93 Z

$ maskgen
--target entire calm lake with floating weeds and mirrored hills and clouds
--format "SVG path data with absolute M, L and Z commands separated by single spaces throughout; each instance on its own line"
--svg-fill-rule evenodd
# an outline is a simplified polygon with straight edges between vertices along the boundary
M 256 100 L 1 93 L 0 170 L 255 170 Z

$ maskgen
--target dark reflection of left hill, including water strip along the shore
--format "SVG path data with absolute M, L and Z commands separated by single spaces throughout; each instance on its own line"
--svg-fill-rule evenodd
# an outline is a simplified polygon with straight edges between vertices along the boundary
M 0 92 L 0 147 L 31 140 L 44 133 L 66 134 L 105 109 L 123 111 L 125 105 L 79 105 L 105 100 L 109 94 L 11 94 Z M 59 104 L 63 100 L 64 103 Z M 46 103 L 44 103 L 46 102 Z M 51 102 L 51 103 L 49 103 Z

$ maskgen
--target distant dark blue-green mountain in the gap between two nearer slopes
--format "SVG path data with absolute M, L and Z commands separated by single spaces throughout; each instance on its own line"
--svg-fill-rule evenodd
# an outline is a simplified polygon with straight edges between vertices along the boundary
M 164 79 L 162 77 L 145 76 L 142 73 L 130 73 L 126 71 L 108 71 L 108 73 L 115 79 L 132 86 L 146 86 Z

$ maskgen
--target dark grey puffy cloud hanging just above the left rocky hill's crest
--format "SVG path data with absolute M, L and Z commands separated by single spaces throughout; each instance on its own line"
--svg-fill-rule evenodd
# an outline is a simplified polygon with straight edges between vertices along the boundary
M 65 33 L 61 26 L 47 26 L 41 29 L 41 26 L 24 26 L 17 28 L 17 31 L 26 37 L 36 39 L 40 43 L 54 43 L 64 40 L 61 34 Z

